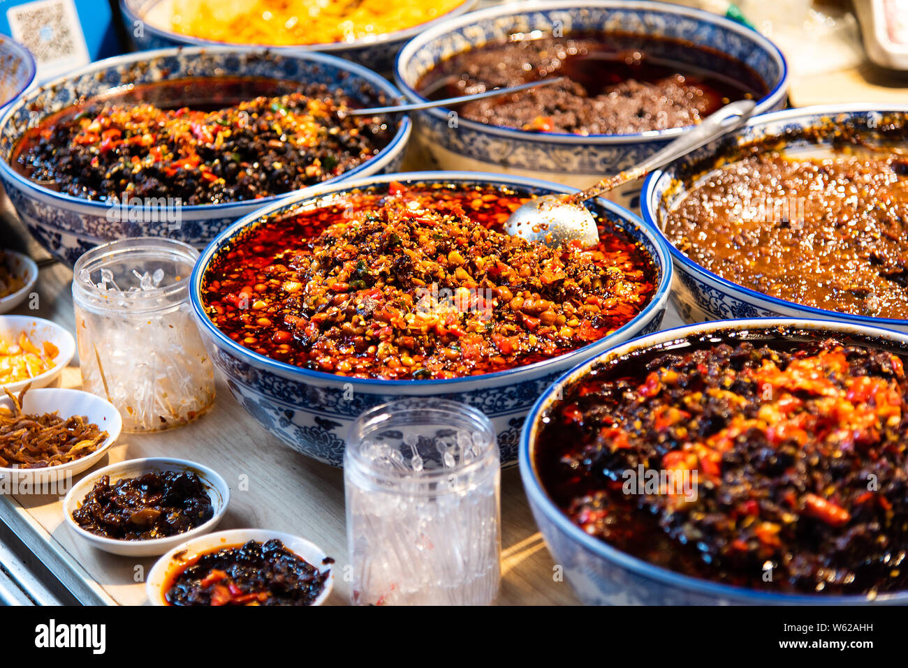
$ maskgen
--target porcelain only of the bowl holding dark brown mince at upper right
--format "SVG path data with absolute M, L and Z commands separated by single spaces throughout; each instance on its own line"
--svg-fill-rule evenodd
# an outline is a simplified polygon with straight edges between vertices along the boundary
M 489 7 L 436 25 L 400 50 L 394 78 L 413 102 L 424 74 L 453 54 L 509 34 L 556 29 L 563 34 L 623 32 L 703 44 L 749 65 L 770 93 L 755 113 L 785 106 L 788 75 L 781 52 L 763 35 L 719 15 L 656 2 L 578 0 L 511 3 Z M 414 114 L 420 142 L 442 169 L 484 170 L 548 179 L 584 188 L 599 179 L 641 162 L 676 139 L 684 128 L 637 134 L 528 133 L 458 118 L 450 127 L 450 110 L 427 109 Z M 625 206 L 636 206 L 640 185 L 609 193 Z

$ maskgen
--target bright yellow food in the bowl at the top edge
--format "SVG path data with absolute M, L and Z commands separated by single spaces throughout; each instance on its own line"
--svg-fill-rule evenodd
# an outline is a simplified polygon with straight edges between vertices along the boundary
M 178 34 L 232 44 L 350 43 L 427 23 L 464 2 L 172 0 L 169 25 L 161 27 Z

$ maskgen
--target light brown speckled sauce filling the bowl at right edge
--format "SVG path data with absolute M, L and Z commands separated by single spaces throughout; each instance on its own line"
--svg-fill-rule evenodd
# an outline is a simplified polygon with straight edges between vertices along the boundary
M 711 172 L 666 216 L 706 270 L 818 309 L 908 318 L 908 163 L 886 151 L 760 152 Z

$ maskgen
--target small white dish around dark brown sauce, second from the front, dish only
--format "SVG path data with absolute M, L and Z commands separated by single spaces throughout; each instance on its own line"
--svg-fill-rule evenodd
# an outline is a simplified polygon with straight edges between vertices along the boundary
M 26 395 L 27 396 L 27 395 Z M 183 534 L 169 535 L 166 538 L 152 538 L 150 540 L 121 540 L 119 538 L 107 538 L 103 535 L 95 535 L 90 531 L 77 525 L 73 519 L 73 513 L 81 505 L 85 496 L 91 491 L 101 476 L 110 476 L 111 484 L 126 477 L 143 476 L 146 473 L 154 471 L 177 471 L 192 472 L 199 476 L 202 485 L 207 488 L 208 496 L 212 499 L 212 510 L 214 515 L 210 520 L 202 525 L 196 526 Z M 201 464 L 188 461 L 186 459 L 174 459 L 173 457 L 148 457 L 144 459 L 128 459 L 119 464 L 112 464 L 109 467 L 99 468 L 90 476 L 85 476 L 80 480 L 66 495 L 63 501 L 63 514 L 65 523 L 80 538 L 88 541 L 94 547 L 113 555 L 123 556 L 155 556 L 163 555 L 175 545 L 184 543 L 192 536 L 207 534 L 221 521 L 224 512 L 227 510 L 227 504 L 230 502 L 230 487 L 227 481 L 219 473 L 216 473 L 209 467 L 203 467 Z

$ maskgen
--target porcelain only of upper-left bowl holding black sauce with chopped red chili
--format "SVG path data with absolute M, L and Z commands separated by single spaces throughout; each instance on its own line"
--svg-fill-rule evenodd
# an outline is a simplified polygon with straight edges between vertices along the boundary
M 28 128 L 40 123 L 47 114 L 64 109 L 81 98 L 134 83 L 202 76 L 325 83 L 330 89 L 341 89 L 363 104 L 374 104 L 379 94 L 390 100 L 400 96 L 398 90 L 378 74 L 332 55 L 278 54 L 239 47 L 172 48 L 126 54 L 88 65 L 47 83 L 10 105 L 0 118 L 0 182 L 28 230 L 54 257 L 72 265 L 84 251 L 99 243 L 125 237 L 163 236 L 202 248 L 233 221 L 292 194 L 183 206 L 173 221 L 162 221 L 159 208 L 129 206 L 123 211 L 106 201 L 87 201 L 54 192 L 25 178 L 10 165 L 16 144 Z M 410 118 L 403 114 L 397 117 L 397 123 L 397 132 L 378 155 L 327 182 L 399 169 L 410 139 L 411 124 Z

